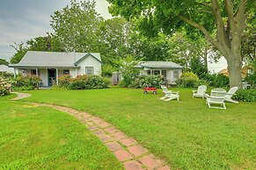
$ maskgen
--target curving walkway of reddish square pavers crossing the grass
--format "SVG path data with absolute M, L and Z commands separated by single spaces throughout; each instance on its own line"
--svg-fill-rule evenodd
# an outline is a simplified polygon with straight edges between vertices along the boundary
M 12 100 L 19 100 L 31 95 L 25 93 L 16 93 L 18 96 Z M 129 138 L 122 131 L 119 131 L 112 124 L 108 124 L 99 117 L 91 116 L 82 111 L 73 110 L 63 106 L 53 104 L 33 103 L 34 105 L 47 106 L 55 110 L 61 110 L 69 113 L 81 121 L 90 131 L 92 131 L 99 139 L 114 153 L 126 169 L 156 169 L 168 170 L 165 162 L 161 159 L 156 159 L 142 145 L 139 145 L 135 139 Z

